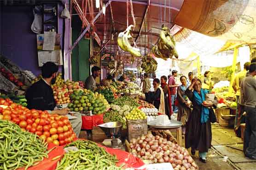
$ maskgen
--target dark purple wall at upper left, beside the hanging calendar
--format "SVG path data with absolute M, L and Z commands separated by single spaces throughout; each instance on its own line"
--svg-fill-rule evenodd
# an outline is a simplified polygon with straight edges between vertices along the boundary
M 30 28 L 34 20 L 33 6 L 2 6 L 0 18 L 1 53 L 21 68 L 30 70 L 35 75 L 41 74 L 38 67 L 36 34 Z M 59 18 L 58 33 L 63 35 L 62 21 L 63 19 Z M 59 67 L 59 71 L 61 70 L 62 66 Z

